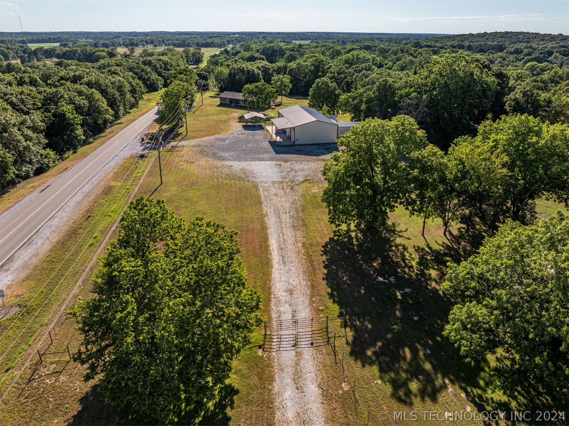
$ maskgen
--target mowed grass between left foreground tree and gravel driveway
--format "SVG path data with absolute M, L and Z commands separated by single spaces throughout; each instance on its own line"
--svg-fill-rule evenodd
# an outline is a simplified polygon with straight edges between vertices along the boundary
M 158 163 L 152 166 L 143 193 L 164 198 L 176 214 L 187 220 L 203 216 L 240 232 L 241 258 L 249 284 L 262 293 L 261 316 L 269 319 L 271 257 L 262 210 L 255 184 L 236 175 L 216 160 L 203 158 L 192 148 L 162 151 L 163 184 Z M 218 402 L 203 424 L 273 424 L 273 373 L 270 358 L 258 353 L 263 342 L 261 330 L 254 333 L 251 345 L 241 351 L 233 364 L 233 374 L 224 388 L 226 400 Z

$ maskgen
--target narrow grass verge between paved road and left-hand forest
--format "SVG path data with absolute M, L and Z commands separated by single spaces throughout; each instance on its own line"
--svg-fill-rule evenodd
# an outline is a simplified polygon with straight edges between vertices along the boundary
M 75 166 L 75 164 L 79 163 L 110 138 L 116 136 L 119 131 L 129 126 L 136 119 L 142 117 L 142 115 L 146 114 L 156 106 L 159 94 L 160 92 L 147 93 L 137 108 L 134 108 L 130 113 L 126 114 L 125 117 L 113 123 L 113 133 L 109 134 L 108 131 L 104 131 L 94 137 L 91 143 L 79 148 L 77 152 L 57 164 L 57 166 L 53 167 L 51 170 L 14 185 L 14 187 L 10 188 L 6 193 L 0 196 L 0 212 L 10 208 L 36 189 L 43 187 L 43 185 L 46 185 L 60 173 L 63 173 L 67 169 Z

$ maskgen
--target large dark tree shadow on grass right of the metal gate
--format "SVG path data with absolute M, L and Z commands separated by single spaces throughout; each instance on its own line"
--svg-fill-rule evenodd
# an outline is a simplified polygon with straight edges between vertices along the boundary
M 415 246 L 412 254 L 405 231 L 397 223 L 366 233 L 335 231 L 323 246 L 330 297 L 348 318 L 351 356 L 377 368 L 391 385 L 391 398 L 403 404 L 438 401 L 447 379 L 451 388 L 465 390 L 464 404 L 479 412 L 559 409 L 562 404 L 524 378 L 496 391 L 508 365 L 495 357 L 491 366 L 487 360 L 472 366 L 442 335 L 456 303 L 439 286 L 447 263 L 475 254 L 488 233 L 460 228 L 450 242 Z M 449 392 L 456 397 L 460 391 Z

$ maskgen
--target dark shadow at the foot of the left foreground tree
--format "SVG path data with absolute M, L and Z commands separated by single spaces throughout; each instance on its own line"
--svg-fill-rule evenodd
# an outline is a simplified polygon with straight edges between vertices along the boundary
M 183 413 L 178 413 L 173 424 L 227 425 L 231 420 L 229 410 L 233 409 L 235 396 L 239 393 L 233 384 L 225 383 L 209 401 L 193 403 Z M 80 399 L 81 408 L 69 422 L 71 425 L 122 425 L 155 424 L 151 419 L 133 416 L 127 407 L 116 407 L 105 402 L 100 385 L 95 384 Z

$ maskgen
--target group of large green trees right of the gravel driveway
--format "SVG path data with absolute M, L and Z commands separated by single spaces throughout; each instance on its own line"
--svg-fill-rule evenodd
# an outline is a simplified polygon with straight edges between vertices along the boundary
M 402 206 L 422 219 L 423 237 L 434 218 L 447 238 L 455 224 L 488 235 L 479 254 L 448 268 L 443 288 L 456 305 L 444 334 L 472 362 L 500 356 L 505 388 L 529 383 L 567 402 L 569 217 L 536 221 L 535 200 L 569 207 L 569 127 L 504 115 L 444 152 L 397 115 L 365 119 L 339 144 L 322 170 L 329 221 L 377 233 Z

